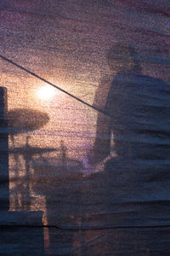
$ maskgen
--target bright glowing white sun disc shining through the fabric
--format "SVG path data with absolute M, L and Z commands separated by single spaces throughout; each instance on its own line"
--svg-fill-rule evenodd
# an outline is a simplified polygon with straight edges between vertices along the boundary
M 38 91 L 37 91 L 37 96 L 44 101 L 51 100 L 56 94 L 56 90 L 49 85 L 42 86 Z

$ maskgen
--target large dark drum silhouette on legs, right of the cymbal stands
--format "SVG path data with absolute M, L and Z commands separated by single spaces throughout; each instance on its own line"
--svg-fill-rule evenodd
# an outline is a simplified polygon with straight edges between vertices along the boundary
M 37 157 L 33 162 L 34 191 L 46 199 L 46 224 L 77 225 L 77 213 L 82 205 L 82 163 L 67 155 L 65 143 L 61 140 L 58 155 Z M 56 230 L 48 229 L 48 253 L 55 253 Z M 72 247 L 72 232 L 59 232 L 59 239 Z

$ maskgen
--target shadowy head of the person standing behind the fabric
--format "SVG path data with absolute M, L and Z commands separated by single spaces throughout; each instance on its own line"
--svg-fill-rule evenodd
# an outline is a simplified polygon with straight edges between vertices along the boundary
M 131 45 L 114 44 L 107 53 L 108 65 L 111 72 L 117 73 L 122 70 L 139 72 L 139 62 L 136 61 L 136 52 Z

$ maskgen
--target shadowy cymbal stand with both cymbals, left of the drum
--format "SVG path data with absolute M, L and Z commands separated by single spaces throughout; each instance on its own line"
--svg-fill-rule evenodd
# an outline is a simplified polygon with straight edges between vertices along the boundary
M 32 162 L 34 162 L 33 157 L 35 155 L 52 152 L 55 149 L 31 147 L 29 145 L 29 137 L 26 137 L 25 146 L 15 147 L 14 135 L 40 129 L 43 125 L 48 123 L 48 120 L 47 113 L 35 109 L 16 108 L 8 112 L 8 131 L 13 143 L 13 148 L 10 148 L 9 153 L 14 154 L 15 168 L 13 170 L 13 175 L 15 179 L 15 188 L 17 188 L 11 189 L 11 193 L 15 195 L 13 203 L 16 208 L 19 207 L 19 209 L 22 208 L 26 211 L 31 210 L 30 168 Z M 25 161 L 26 170 L 24 176 L 20 173 L 20 156 L 22 156 Z M 21 205 L 19 204 L 19 201 Z

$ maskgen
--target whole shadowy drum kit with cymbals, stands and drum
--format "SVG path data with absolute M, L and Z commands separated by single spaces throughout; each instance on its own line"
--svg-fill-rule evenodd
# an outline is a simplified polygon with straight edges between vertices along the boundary
M 15 135 L 41 128 L 47 122 L 48 114 L 34 109 L 14 109 L 8 113 L 9 131 L 13 143 L 9 154 L 14 156 L 11 179 L 14 186 L 10 189 L 13 195 L 13 210 L 44 210 L 43 224 L 60 225 L 64 224 L 65 219 L 70 224 L 74 224 L 81 199 L 81 194 L 74 193 L 81 187 L 81 161 L 68 158 L 63 141 L 59 148 L 33 147 L 30 143 L 31 137 L 26 136 L 26 143 L 23 146 L 15 146 Z M 52 156 L 51 153 L 54 152 L 57 152 L 57 155 Z M 20 159 L 25 164 L 22 171 L 20 171 Z M 79 183 L 75 185 L 76 182 Z M 36 200 L 35 196 L 37 196 Z M 40 198 L 39 201 L 37 198 Z M 51 236 L 53 237 L 53 230 L 48 229 L 47 233 L 48 238 L 44 235 L 47 240 L 45 247 L 50 251 L 48 243 L 51 241 Z M 68 239 L 71 241 L 71 235 Z

